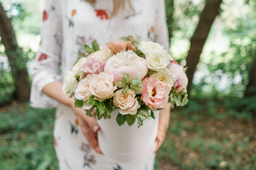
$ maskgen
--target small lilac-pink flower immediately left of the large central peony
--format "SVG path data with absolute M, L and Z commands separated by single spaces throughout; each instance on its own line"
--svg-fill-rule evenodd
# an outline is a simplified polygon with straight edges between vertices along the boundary
M 99 74 L 100 72 L 100 60 L 97 60 L 95 57 L 90 58 L 88 62 L 82 64 L 82 72 L 85 74 Z

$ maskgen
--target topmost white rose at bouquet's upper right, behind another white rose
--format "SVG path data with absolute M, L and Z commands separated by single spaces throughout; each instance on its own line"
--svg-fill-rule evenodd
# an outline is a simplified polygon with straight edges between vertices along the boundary
M 144 41 L 142 44 L 139 46 L 139 50 L 141 50 L 144 55 L 149 55 L 151 52 L 164 52 L 164 47 L 159 45 L 159 43 L 156 42 L 151 42 L 151 41 Z

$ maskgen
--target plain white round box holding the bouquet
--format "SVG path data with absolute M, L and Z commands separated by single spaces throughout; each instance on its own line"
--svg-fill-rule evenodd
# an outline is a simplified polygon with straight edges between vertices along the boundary
M 137 120 L 132 126 L 127 122 L 119 126 L 116 122 L 118 110 L 110 119 L 98 120 L 100 130 L 97 139 L 102 152 L 117 162 L 140 162 L 148 158 L 156 149 L 156 134 L 159 125 L 159 111 L 154 111 L 155 119 L 143 121 L 137 127 Z

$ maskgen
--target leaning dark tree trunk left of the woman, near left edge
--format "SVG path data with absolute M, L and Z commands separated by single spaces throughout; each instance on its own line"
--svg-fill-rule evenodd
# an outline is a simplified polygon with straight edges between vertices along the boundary
M 28 101 L 30 96 L 30 81 L 26 70 L 26 62 L 23 60 L 22 50 L 18 47 L 11 20 L 6 16 L 0 3 L 0 36 L 8 57 L 11 74 L 14 77 L 14 98 L 17 101 Z

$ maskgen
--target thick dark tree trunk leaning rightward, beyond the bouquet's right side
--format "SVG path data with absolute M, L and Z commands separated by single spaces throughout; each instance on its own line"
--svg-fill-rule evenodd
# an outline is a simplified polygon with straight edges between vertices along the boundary
M 198 26 L 191 38 L 191 46 L 188 50 L 188 56 L 186 58 L 187 63 L 187 76 L 188 76 L 188 91 L 191 89 L 193 74 L 196 71 L 196 65 L 198 64 L 203 45 L 206 42 L 210 27 L 216 16 L 218 16 L 220 10 L 220 4 L 222 0 L 207 0 L 206 6 L 203 8 L 201 16 L 199 18 Z

